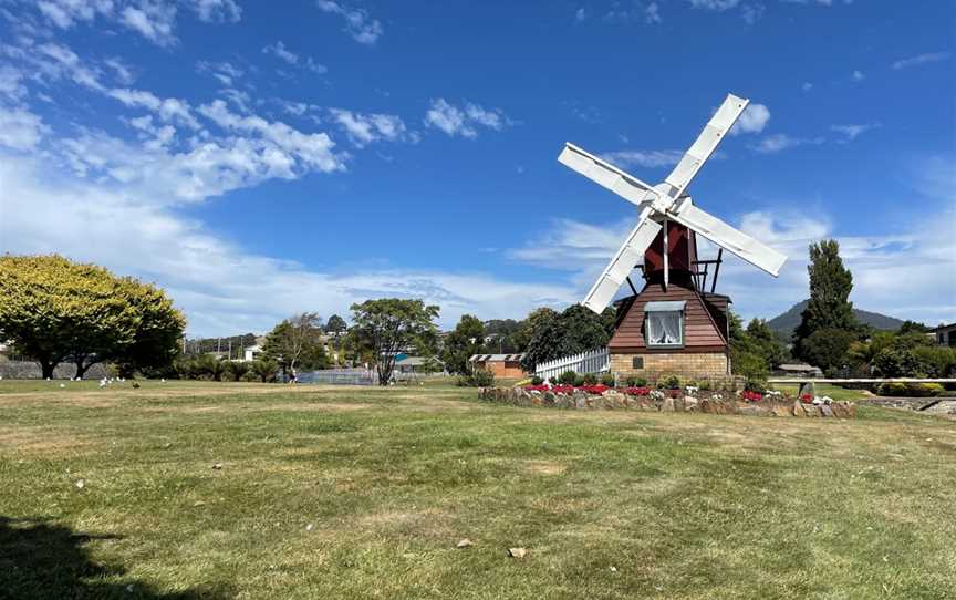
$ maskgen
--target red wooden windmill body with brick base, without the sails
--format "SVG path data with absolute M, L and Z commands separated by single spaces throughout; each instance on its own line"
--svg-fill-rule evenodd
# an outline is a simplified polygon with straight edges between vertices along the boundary
M 638 292 L 628 278 L 634 294 L 616 302 L 614 334 L 607 344 L 611 372 L 651 381 L 665 374 L 726 380 L 730 298 L 706 291 L 700 279 L 702 265 L 717 261 L 698 261 L 694 231 L 673 221 L 666 230 L 668 260 L 662 229 L 644 255 L 643 289 Z

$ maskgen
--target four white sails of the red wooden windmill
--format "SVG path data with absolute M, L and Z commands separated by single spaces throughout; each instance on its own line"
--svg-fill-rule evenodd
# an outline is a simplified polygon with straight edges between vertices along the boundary
M 696 270 L 699 265 L 692 263 L 702 261 L 696 261 L 696 240 L 693 234 L 686 231 L 687 229 L 773 277 L 779 275 L 780 268 L 787 260 L 786 256 L 702 210 L 694 205 L 690 196 L 686 194 L 687 187 L 700 167 L 714 154 L 717 145 L 734 126 L 749 102 L 749 100 L 737 97 L 734 94 L 727 94 L 727 99 L 704 126 L 697 141 L 684 154 L 671 175 L 655 186 L 642 182 L 573 144 L 565 144 L 558 161 L 614 192 L 625 200 L 635 204 L 638 208 L 637 223 L 634 229 L 627 235 L 624 244 L 621 245 L 604 272 L 588 292 L 582 302 L 585 307 L 598 313 L 603 311 L 621 286 L 625 281 L 630 282 L 631 271 L 642 260 L 645 265 L 652 262 L 663 267 L 657 270 L 663 275 L 663 285 L 666 289 L 673 270 L 669 265 L 673 250 L 671 248 L 672 238 L 675 237 L 672 228 L 676 229 L 676 237 L 685 237 L 693 247 L 693 258 L 683 261 L 682 266 L 692 269 L 690 272 L 694 276 L 700 275 Z M 673 227 L 671 221 L 677 224 L 677 227 Z M 663 235 L 662 231 L 666 231 L 667 235 Z M 663 258 L 663 266 L 655 261 L 656 257 L 647 256 L 648 248 L 656 238 L 662 239 L 659 256 Z M 685 262 L 689 263 L 685 265 Z M 719 269 L 719 259 L 710 262 L 716 262 Z M 648 269 L 645 269 L 645 277 L 650 275 L 647 271 Z M 716 272 L 714 283 L 716 283 Z

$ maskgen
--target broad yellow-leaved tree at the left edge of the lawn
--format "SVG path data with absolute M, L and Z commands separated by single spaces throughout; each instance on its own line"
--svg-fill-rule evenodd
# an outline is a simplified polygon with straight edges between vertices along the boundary
M 172 362 L 186 320 L 165 292 L 59 255 L 0 257 L 0 338 L 40 363 L 64 361 L 82 377 L 95 362 L 121 372 Z

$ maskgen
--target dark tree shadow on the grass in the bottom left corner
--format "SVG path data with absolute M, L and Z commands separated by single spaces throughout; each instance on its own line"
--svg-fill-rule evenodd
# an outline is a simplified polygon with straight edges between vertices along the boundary
M 148 583 L 123 578 L 119 565 L 95 562 L 86 545 L 122 539 L 114 535 L 79 534 L 48 518 L 0 516 L 0 600 L 123 598 L 148 600 L 227 599 L 218 588 L 163 593 Z

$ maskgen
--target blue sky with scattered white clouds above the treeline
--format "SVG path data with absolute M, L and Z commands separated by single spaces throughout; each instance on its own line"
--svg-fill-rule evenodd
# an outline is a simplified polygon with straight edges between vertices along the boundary
M 277 8 L 278 7 L 278 8 Z M 928 7 L 928 8 L 927 8 Z M 902 2 L 0 1 L 0 250 L 167 288 L 190 334 L 419 297 L 441 323 L 580 301 L 728 92 L 690 192 L 787 252 L 838 238 L 860 308 L 956 320 L 956 8 Z

